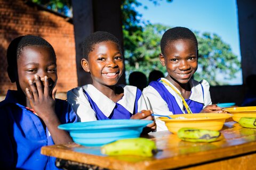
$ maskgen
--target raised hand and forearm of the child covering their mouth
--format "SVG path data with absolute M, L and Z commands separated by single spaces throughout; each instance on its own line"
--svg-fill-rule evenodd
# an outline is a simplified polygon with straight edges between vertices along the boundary
M 42 118 L 55 144 L 73 142 L 68 132 L 58 129 L 58 125 L 61 123 L 55 113 L 55 94 L 57 90 L 53 90 L 52 95 L 50 94 L 47 76 L 44 77 L 44 88 L 38 75 L 35 75 L 35 82 L 36 86 L 30 80 L 30 89 L 26 88 L 26 95 L 31 107 Z

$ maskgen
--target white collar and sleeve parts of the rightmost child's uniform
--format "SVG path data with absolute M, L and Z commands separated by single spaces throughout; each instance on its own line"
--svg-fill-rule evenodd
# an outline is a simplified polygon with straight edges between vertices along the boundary
M 178 88 L 176 88 L 169 80 L 162 78 L 165 81 L 169 82 L 177 91 L 179 91 Z M 204 94 L 202 91 L 202 86 L 204 89 Z M 172 96 L 174 96 L 175 100 L 177 101 L 181 111 L 185 113 L 182 99 L 181 97 L 167 84 L 163 83 L 164 87 L 170 92 Z M 191 95 L 189 97 L 190 100 L 197 101 L 198 103 L 204 104 L 203 108 L 207 105 L 211 105 L 211 96 L 210 96 L 210 85 L 206 80 L 202 80 L 201 82 L 198 82 L 196 80 L 190 79 L 189 84 L 191 87 Z M 179 91 L 180 92 L 180 91 Z M 168 105 L 166 101 L 161 97 L 161 95 L 158 93 L 158 91 L 148 86 L 145 89 L 143 89 L 143 95 L 147 97 L 149 100 L 149 108 L 153 111 L 155 114 L 160 115 L 172 115 L 173 113 L 169 111 Z M 156 125 L 157 125 L 157 131 L 164 131 L 167 130 L 165 123 L 163 121 L 160 121 L 156 119 Z

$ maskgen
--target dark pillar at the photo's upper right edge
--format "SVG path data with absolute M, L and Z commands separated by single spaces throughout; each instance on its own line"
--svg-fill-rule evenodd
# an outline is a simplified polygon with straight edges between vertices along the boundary
M 237 0 L 243 82 L 256 74 L 256 1 Z

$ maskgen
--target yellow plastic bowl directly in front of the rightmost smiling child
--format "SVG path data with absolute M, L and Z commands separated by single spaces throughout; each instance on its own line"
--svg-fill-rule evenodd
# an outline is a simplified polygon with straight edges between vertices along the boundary
M 197 128 L 219 131 L 222 129 L 225 120 L 230 118 L 232 115 L 228 113 L 197 113 L 169 116 L 172 117 L 172 119 L 167 117 L 157 117 L 157 119 L 164 121 L 167 129 L 176 134 L 181 128 Z

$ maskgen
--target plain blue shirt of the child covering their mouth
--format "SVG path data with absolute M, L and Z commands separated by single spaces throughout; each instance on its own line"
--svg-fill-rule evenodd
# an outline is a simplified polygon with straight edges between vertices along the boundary
M 54 145 L 40 118 L 17 103 L 17 91 L 9 90 L 0 103 L 1 167 L 4 169 L 58 169 L 55 158 L 41 155 L 43 146 Z M 55 111 L 61 124 L 77 121 L 65 100 L 56 99 Z

